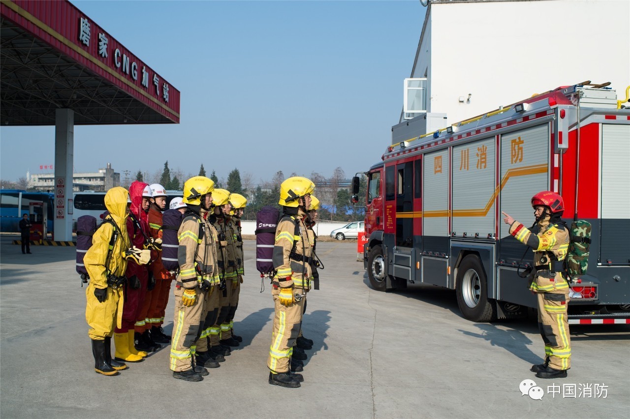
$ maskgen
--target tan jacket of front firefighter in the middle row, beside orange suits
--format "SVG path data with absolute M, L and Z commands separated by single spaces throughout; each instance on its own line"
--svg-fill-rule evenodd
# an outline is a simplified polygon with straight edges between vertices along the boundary
M 197 217 L 186 212 L 177 232 L 180 244 L 177 281 L 187 289 L 197 287 L 202 280 L 209 281 L 210 285 L 219 284 L 217 231 L 207 220 L 208 215 L 204 209 L 200 209 Z

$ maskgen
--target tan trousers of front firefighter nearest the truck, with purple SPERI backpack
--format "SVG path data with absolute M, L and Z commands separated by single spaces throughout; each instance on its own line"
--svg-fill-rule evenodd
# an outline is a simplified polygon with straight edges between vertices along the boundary
M 267 367 L 273 374 L 289 371 L 289 359 L 293 354 L 304 311 L 304 300 L 286 307 L 280 303 L 278 294 L 280 294 L 280 289 L 272 288 L 275 313 Z

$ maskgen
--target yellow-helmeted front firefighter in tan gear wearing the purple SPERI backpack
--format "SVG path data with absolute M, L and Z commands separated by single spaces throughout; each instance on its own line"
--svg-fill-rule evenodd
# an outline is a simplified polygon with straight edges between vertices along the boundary
M 269 384 L 299 387 L 301 374 L 290 371 L 290 357 L 300 331 L 304 297 L 310 287 L 312 236 L 307 233 L 305 219 L 311 205 L 315 185 L 300 176 L 280 185 L 283 214 L 276 228 L 273 247 L 272 297 L 275 306 L 272 343 L 267 359 Z

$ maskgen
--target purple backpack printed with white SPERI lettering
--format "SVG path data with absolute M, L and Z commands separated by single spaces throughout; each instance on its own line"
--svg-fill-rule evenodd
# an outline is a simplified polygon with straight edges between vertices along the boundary
M 266 205 L 256 212 L 256 269 L 261 277 L 273 277 L 273 246 L 280 211 Z

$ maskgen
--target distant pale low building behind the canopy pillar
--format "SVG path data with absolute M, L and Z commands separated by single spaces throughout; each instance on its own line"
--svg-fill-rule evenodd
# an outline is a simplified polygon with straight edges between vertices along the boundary
M 30 175 L 26 173 L 28 188 L 37 190 L 54 190 L 54 173 L 42 173 L 40 175 Z M 112 164 L 107 163 L 107 167 L 98 169 L 94 173 L 74 173 L 72 175 L 72 190 L 81 192 L 84 190 L 93 190 L 95 192 L 106 192 L 110 188 L 120 186 L 120 173 L 116 173 L 112 169 Z

